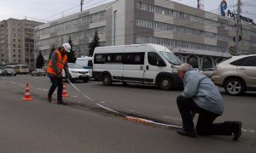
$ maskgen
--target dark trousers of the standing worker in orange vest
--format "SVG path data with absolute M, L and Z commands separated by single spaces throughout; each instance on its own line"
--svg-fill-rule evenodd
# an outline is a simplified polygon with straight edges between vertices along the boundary
M 63 90 L 62 77 L 49 76 L 49 79 L 52 84 L 49 88 L 48 96 L 51 97 L 52 94 L 55 92 L 55 88 L 58 87 L 57 101 L 62 101 L 62 90 Z

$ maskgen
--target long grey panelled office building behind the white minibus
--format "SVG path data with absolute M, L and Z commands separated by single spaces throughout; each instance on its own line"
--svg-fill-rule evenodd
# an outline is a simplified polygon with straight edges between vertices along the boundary
M 95 31 L 102 46 L 157 43 L 203 69 L 230 57 L 236 21 L 166 0 L 117 0 L 36 27 L 36 50 L 48 57 L 71 37 L 76 54 L 87 55 Z M 241 31 L 239 53 L 256 52 L 256 26 L 242 23 Z

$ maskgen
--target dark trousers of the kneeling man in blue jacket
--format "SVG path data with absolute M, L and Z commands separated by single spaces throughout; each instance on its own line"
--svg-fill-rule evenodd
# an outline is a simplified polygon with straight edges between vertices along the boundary
M 231 135 L 233 122 L 213 123 L 219 116 L 199 107 L 193 99 L 186 99 L 182 95 L 177 97 L 177 108 L 183 119 L 183 128 L 199 135 Z M 198 120 L 194 128 L 191 112 L 198 113 Z

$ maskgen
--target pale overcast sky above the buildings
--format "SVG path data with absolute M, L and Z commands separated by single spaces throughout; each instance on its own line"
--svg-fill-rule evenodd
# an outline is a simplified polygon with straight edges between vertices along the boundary
M 113 0 L 84 0 L 83 10 Z M 173 0 L 197 7 L 197 0 Z M 204 10 L 218 14 L 221 0 L 204 0 Z M 237 0 L 226 0 L 228 9 L 236 11 Z M 256 23 L 256 0 L 241 0 L 241 14 Z M 9 18 L 49 22 L 80 11 L 80 0 L 0 0 L 0 21 Z

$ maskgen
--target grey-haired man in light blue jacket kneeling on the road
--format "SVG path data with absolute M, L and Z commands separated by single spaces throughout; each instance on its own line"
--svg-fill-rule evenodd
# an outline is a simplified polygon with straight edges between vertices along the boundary
M 237 140 L 241 136 L 241 122 L 213 123 L 224 112 L 224 104 L 218 88 L 211 79 L 189 64 L 179 66 L 178 77 L 183 81 L 182 95 L 177 97 L 177 107 L 182 116 L 183 128 L 177 133 L 189 137 L 196 135 L 234 135 Z M 193 115 L 198 113 L 196 127 Z

